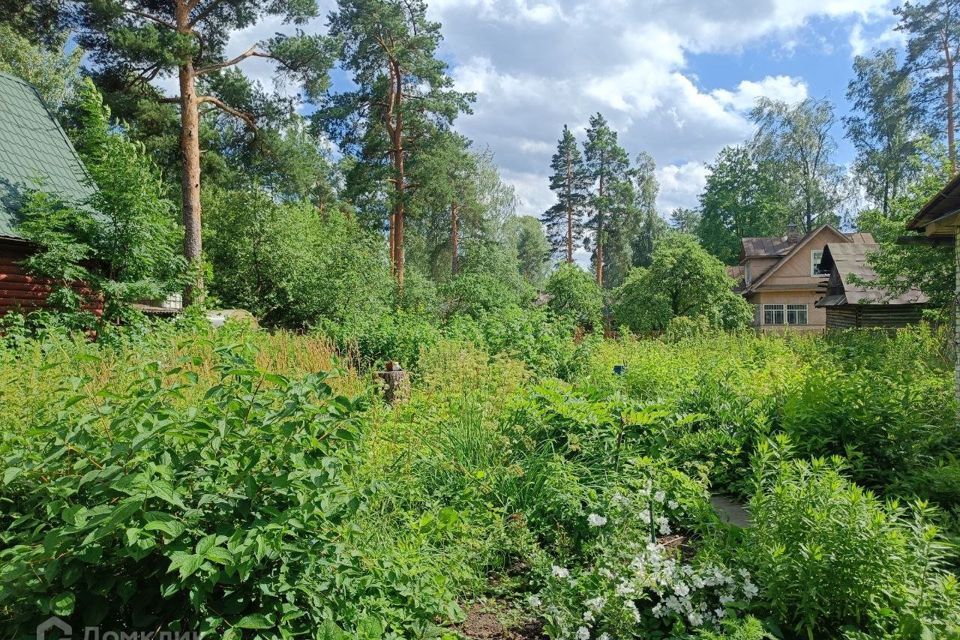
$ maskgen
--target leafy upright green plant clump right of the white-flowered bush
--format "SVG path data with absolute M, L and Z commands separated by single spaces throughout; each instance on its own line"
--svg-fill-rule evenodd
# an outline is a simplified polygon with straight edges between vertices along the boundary
M 745 554 L 777 617 L 809 638 L 891 624 L 894 637 L 957 633 L 952 605 L 926 602 L 955 578 L 925 506 L 908 518 L 846 480 L 839 458 L 784 461 L 787 442 L 760 448 Z

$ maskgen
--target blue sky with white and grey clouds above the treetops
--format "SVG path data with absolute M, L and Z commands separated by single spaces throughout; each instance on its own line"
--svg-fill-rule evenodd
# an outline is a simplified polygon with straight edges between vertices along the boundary
M 518 213 L 554 202 L 550 157 L 563 125 L 583 140 L 602 112 L 631 157 L 657 163 L 658 208 L 696 206 L 708 165 L 752 134 L 760 96 L 836 105 L 837 160 L 852 149 L 840 119 L 853 58 L 903 45 L 890 0 L 428 0 L 457 88 L 477 94 L 456 128 L 489 147 L 516 189 Z M 321 0 L 326 14 L 332 0 Z M 325 19 L 308 31 L 323 32 Z M 283 31 L 238 32 L 230 51 Z M 268 85 L 266 61 L 248 73 Z M 335 87 L 341 79 L 335 77 Z

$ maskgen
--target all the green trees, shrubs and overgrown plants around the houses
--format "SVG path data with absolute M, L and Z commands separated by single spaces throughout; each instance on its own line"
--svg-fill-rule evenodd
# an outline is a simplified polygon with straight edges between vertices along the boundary
M 955 303 L 953 256 L 896 239 L 955 171 L 930 43 L 956 48 L 958 0 L 855 61 L 852 172 L 829 102 L 761 99 L 668 228 L 653 159 L 584 116 L 546 231 L 455 133 L 474 96 L 423 0 L 338 0 L 323 34 L 296 30 L 313 0 L 22 4 L 0 71 L 98 189 L 23 194 L 25 266 L 63 286 L 0 319 L 0 635 L 960 638 L 948 337 L 747 333 L 724 269 L 740 237 L 843 223 L 884 284 Z M 295 31 L 226 55 L 267 21 Z M 169 322 L 130 304 L 178 291 Z

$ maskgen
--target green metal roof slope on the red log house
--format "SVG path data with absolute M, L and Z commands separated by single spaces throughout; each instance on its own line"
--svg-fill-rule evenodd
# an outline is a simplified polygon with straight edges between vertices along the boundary
M 80 157 L 32 86 L 0 73 L 0 236 L 20 238 L 24 190 L 81 204 L 94 191 Z

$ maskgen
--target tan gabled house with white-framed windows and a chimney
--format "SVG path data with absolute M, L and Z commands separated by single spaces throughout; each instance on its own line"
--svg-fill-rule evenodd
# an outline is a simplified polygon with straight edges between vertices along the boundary
M 872 242 L 870 234 L 846 234 L 830 225 L 806 235 L 743 238 L 738 291 L 754 305 L 754 326 L 763 331 L 825 329 L 826 311 L 816 307 L 829 275 L 820 268 L 824 248 L 828 243 Z

